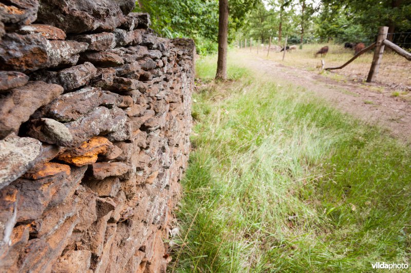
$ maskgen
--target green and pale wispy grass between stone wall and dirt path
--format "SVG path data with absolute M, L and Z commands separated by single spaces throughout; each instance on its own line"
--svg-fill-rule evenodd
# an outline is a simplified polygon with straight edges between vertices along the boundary
M 175 272 L 359 272 L 410 259 L 409 146 L 231 57 L 197 62 Z M 395 271 L 395 270 L 392 270 Z

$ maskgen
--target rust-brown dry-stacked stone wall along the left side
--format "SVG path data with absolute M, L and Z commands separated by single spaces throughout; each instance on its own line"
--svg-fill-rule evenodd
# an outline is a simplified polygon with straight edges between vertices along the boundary
M 194 43 L 133 0 L 0 0 L 2 272 L 160 272 Z

